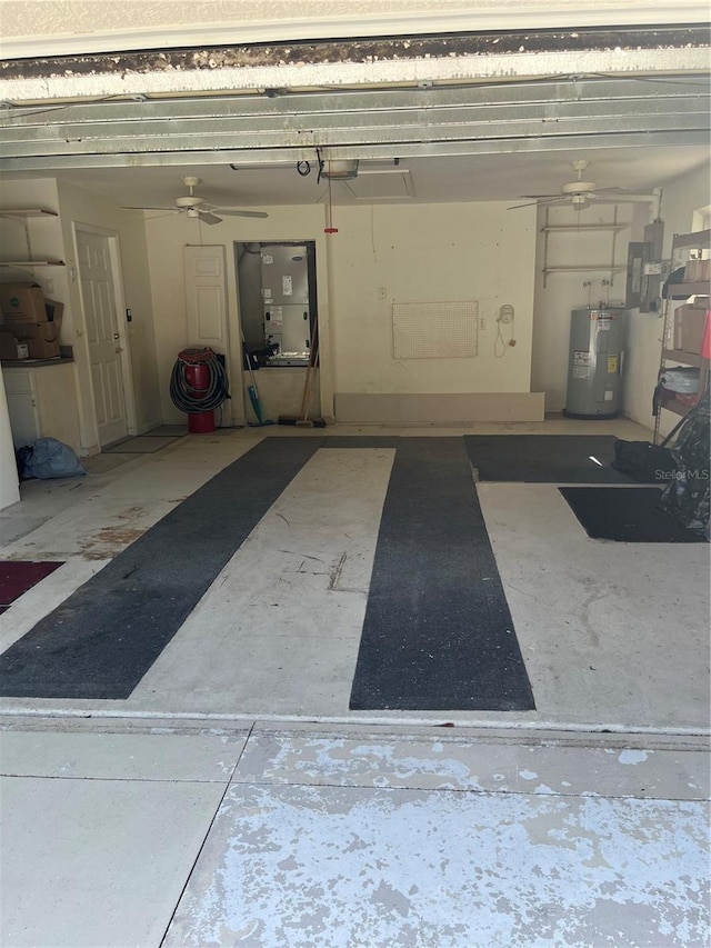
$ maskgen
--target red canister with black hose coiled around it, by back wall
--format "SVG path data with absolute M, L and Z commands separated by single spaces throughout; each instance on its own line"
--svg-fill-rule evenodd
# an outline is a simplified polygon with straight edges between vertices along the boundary
M 230 397 L 224 357 L 212 349 L 183 349 L 170 377 L 170 398 L 188 415 L 191 435 L 214 431 L 214 409 Z

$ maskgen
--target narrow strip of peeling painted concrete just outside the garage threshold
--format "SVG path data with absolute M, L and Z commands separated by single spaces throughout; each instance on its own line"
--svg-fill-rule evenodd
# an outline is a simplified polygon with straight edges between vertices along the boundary
M 590 741 L 590 738 L 587 738 Z M 709 797 L 703 741 L 642 749 L 582 746 L 521 734 L 430 737 L 427 734 L 312 732 L 254 729 L 240 761 L 240 782 L 388 787 L 417 790 L 613 796 L 667 800 Z M 628 738 L 629 740 L 629 738 Z

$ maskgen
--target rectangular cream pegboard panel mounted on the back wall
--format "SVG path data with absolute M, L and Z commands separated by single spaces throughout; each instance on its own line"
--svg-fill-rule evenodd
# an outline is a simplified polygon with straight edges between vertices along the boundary
M 478 351 L 477 300 L 392 305 L 395 359 L 458 359 Z

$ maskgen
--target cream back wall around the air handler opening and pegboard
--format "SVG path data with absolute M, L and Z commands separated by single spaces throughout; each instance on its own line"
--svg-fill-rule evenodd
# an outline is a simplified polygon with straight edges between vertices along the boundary
M 239 312 L 233 241 L 316 240 L 321 413 L 332 415 L 332 391 L 356 393 L 528 392 L 533 315 L 534 213 L 515 220 L 505 204 L 381 204 L 337 207 L 338 233 L 326 237 L 324 208 L 270 207 L 267 220 L 227 218 L 208 227 L 182 214 L 147 220 L 160 392 L 164 420 L 181 420 L 170 402 L 169 381 L 187 337 L 182 248 L 222 243 L 228 248 L 231 377 L 240 375 Z M 150 214 L 148 216 L 150 218 Z M 379 299 L 379 288 L 387 299 Z M 485 322 L 472 358 L 395 361 L 390 307 L 393 301 L 477 299 Z M 515 308 L 515 347 L 493 353 L 495 316 Z M 289 406 L 269 403 L 270 370 L 258 385 L 268 413 Z M 274 376 L 271 376 L 274 379 Z M 281 378 L 281 377 L 280 377 Z M 301 376 L 297 377 L 298 379 Z M 233 395 L 239 385 L 232 385 Z M 266 393 L 264 393 L 266 392 Z M 232 399 L 232 421 L 243 416 Z

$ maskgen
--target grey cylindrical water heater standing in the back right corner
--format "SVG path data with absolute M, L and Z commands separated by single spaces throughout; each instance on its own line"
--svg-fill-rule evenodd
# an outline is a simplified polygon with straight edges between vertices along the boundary
M 624 310 L 573 309 L 564 415 L 614 418 L 622 397 Z

